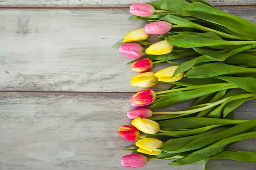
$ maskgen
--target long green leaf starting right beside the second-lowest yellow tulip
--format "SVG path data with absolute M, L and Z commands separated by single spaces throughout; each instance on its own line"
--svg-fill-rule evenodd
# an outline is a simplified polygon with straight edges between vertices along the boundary
M 247 122 L 247 120 L 226 120 L 206 117 L 187 117 L 180 119 L 163 120 L 158 122 L 158 124 L 161 130 L 165 130 L 167 128 L 193 129 L 211 125 L 234 125 L 239 124 L 241 122 Z

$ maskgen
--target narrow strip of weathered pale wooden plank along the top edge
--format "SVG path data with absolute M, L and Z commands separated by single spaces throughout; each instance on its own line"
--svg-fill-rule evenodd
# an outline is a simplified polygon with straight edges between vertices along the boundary
M 0 6 L 33 7 L 129 7 L 132 3 L 146 3 L 153 0 L 1 0 Z M 252 5 L 255 0 L 208 0 L 212 5 Z

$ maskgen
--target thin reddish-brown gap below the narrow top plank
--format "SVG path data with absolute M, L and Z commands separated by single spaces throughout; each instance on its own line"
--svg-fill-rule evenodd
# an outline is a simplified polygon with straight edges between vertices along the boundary
M 215 6 L 216 8 L 241 8 L 241 7 L 256 7 L 256 5 L 230 5 L 230 6 Z M 129 9 L 130 7 L 33 7 L 33 6 L 0 6 L 0 9 Z

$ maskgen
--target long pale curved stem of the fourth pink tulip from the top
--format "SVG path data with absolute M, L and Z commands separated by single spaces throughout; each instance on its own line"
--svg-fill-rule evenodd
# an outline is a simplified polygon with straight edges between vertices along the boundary
M 232 97 L 232 96 L 230 96 Z M 229 99 L 230 97 L 227 97 L 225 99 L 221 99 L 217 102 L 213 102 L 213 103 L 207 103 L 207 104 L 202 104 L 202 105 L 206 105 L 205 107 L 202 107 L 202 108 L 198 108 L 198 109 L 192 109 L 192 110 L 187 110 L 187 111 L 173 111 L 173 112 L 153 112 L 153 114 L 185 114 L 185 113 L 196 113 L 196 112 L 199 112 L 199 111 L 204 111 L 206 109 L 209 109 L 209 108 L 212 108 L 216 105 L 219 105 L 223 102 L 225 102 L 227 99 Z M 200 106 L 200 105 L 197 105 L 197 106 Z

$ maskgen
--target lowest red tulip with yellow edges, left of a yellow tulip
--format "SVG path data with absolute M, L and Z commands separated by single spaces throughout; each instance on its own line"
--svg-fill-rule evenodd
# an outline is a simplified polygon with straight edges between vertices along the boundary
M 117 133 L 128 141 L 137 141 L 140 138 L 140 132 L 137 128 L 129 125 L 119 127 Z

